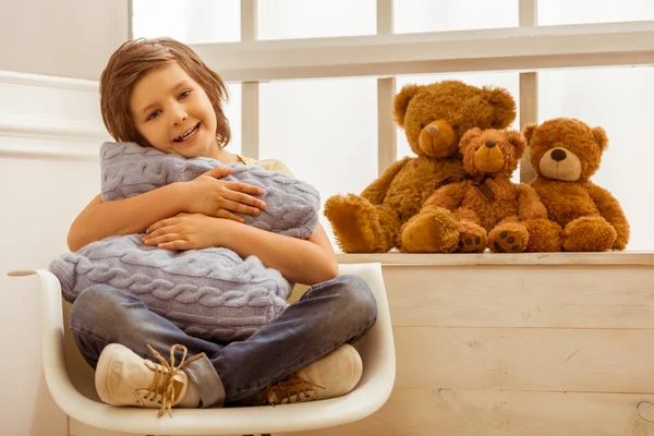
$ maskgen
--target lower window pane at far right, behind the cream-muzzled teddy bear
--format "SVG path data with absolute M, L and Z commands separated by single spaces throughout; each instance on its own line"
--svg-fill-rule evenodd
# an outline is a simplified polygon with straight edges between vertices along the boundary
M 591 179 L 620 202 L 631 225 L 628 249 L 651 250 L 654 233 L 654 161 L 649 128 L 654 113 L 654 70 L 616 68 L 540 73 L 540 122 L 557 117 L 578 118 L 602 126 L 608 149 Z

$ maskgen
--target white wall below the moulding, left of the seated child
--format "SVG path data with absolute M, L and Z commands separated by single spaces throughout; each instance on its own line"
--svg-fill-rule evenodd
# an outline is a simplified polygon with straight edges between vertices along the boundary
M 99 192 L 107 140 L 94 82 L 0 72 L 0 434 L 66 435 L 40 365 L 38 282 L 12 269 L 47 268 L 68 250 L 75 215 Z

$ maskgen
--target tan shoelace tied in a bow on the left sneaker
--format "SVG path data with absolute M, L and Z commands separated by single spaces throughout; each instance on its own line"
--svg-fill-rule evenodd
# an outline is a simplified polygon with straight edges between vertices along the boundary
M 157 396 L 161 396 L 161 408 L 159 409 L 159 413 L 157 413 L 157 417 L 164 416 L 164 413 L 168 411 L 168 415 L 172 416 L 172 403 L 174 402 L 174 376 L 178 372 L 180 372 L 184 366 L 190 364 L 191 362 L 196 361 L 202 358 L 204 353 L 196 354 L 186 360 L 186 347 L 180 346 L 175 343 L 170 348 L 170 363 L 166 362 L 166 359 L 161 356 L 149 344 L 147 346 L 153 355 L 159 361 L 159 364 L 145 361 L 145 365 L 155 372 L 155 378 L 153 379 L 153 384 L 147 389 L 149 395 L 146 397 L 148 400 L 154 400 Z M 182 350 L 183 355 L 179 365 L 174 365 L 174 351 Z M 148 362 L 152 364 L 148 365 Z

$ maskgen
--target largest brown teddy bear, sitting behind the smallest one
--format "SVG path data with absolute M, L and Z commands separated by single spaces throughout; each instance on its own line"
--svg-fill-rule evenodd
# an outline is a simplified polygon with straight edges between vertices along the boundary
M 460 135 L 475 126 L 508 126 L 516 118 L 516 101 L 506 89 L 460 81 L 407 85 L 395 96 L 393 118 L 416 157 L 389 166 L 360 196 L 327 199 L 325 216 L 343 252 L 399 247 L 402 225 L 436 189 L 463 177 Z

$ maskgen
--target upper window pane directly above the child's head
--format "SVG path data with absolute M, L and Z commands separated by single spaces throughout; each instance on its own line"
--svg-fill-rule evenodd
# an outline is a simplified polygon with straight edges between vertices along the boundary
M 240 0 L 133 0 L 134 37 L 170 36 L 186 44 L 241 39 Z

